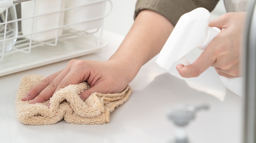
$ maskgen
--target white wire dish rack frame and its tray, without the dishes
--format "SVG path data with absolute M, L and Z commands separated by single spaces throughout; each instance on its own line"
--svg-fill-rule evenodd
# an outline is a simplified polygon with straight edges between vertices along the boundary
M 6 17 L 8 17 L 8 8 L 14 6 L 15 4 L 19 4 L 26 1 L 35 1 L 36 0 L 2 0 L 0 1 L 0 8 L 6 7 Z M 105 5 L 109 2 L 111 8 L 110 11 L 105 14 Z M 56 34 L 56 37 L 47 41 L 34 41 L 32 40 L 32 36 L 35 34 L 40 34 L 40 32 L 32 32 L 31 34 L 23 35 L 19 30 L 18 35 L 14 38 L 17 39 L 15 45 L 11 48 L 10 51 L 4 51 L 4 45 L 0 45 L 2 50 L 0 55 L 0 76 L 4 76 L 7 74 L 15 73 L 18 71 L 24 71 L 27 69 L 51 64 L 54 62 L 75 58 L 78 56 L 83 56 L 87 54 L 91 54 L 97 52 L 101 48 L 108 45 L 107 42 L 102 41 L 102 26 L 103 19 L 108 16 L 112 10 L 112 2 L 110 0 L 88 0 L 88 3 L 81 4 L 75 7 L 69 8 L 59 8 L 57 11 L 53 11 L 46 14 L 41 15 L 33 15 L 29 17 L 34 20 L 34 18 L 49 15 L 52 13 L 58 13 L 60 20 L 61 13 L 75 8 L 82 7 L 90 7 L 91 5 L 104 3 L 103 14 L 100 17 L 93 17 L 91 19 L 84 20 L 82 22 L 73 23 L 73 24 L 63 24 L 58 25 L 54 28 L 50 28 L 47 30 L 43 30 L 40 32 L 46 32 L 50 30 L 63 30 L 61 36 Z M 101 9 L 102 10 L 102 9 Z M 35 11 L 35 5 L 34 5 Z M 17 12 L 18 13 L 18 12 Z M 8 21 L 6 19 L 5 22 L 0 23 L 0 25 L 6 25 L 11 22 L 21 22 L 22 20 L 26 20 L 28 18 L 18 18 L 16 20 Z M 79 31 L 70 28 L 76 24 L 89 24 L 90 22 L 101 20 L 101 26 L 89 30 Z M 32 21 L 33 22 L 33 21 Z M 33 25 L 33 24 L 32 24 Z M 33 29 L 33 26 L 32 26 Z M 32 30 L 33 31 L 33 30 Z M 4 39 L 0 40 L 0 43 L 10 40 L 11 38 L 6 37 L 6 30 L 4 33 L 0 33 L 0 35 L 4 35 Z M 28 38 L 29 37 L 29 38 Z

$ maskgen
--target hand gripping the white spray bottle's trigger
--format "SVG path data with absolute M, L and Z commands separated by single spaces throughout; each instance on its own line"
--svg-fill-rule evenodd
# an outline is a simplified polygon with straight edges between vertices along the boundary
M 212 20 L 210 27 L 222 31 L 209 43 L 205 51 L 188 66 L 177 65 L 183 77 L 197 77 L 210 66 L 227 78 L 241 76 L 240 46 L 242 44 L 246 12 L 230 12 Z

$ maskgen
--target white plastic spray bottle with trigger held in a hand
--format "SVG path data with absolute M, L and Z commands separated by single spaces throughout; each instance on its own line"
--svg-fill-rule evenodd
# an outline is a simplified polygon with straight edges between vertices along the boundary
M 210 41 L 221 31 L 217 27 L 208 26 L 210 17 L 210 12 L 205 8 L 196 8 L 183 14 L 157 58 L 156 62 L 160 67 L 168 70 L 175 61 L 181 62 L 184 66 L 190 65 L 185 55 L 194 48 L 204 51 Z M 221 81 L 228 89 L 242 96 L 242 77 L 221 76 Z

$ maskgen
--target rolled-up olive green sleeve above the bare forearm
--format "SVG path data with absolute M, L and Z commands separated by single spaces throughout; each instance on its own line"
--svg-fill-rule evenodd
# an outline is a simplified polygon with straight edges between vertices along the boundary
M 203 7 L 212 11 L 219 0 L 137 0 L 134 19 L 141 10 L 155 11 L 167 18 L 174 26 L 181 15 L 195 8 Z

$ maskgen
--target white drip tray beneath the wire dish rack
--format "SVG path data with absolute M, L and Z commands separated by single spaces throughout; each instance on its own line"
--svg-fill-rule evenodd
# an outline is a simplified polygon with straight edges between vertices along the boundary
M 0 76 L 95 53 L 108 45 L 102 40 L 97 41 L 101 41 L 100 44 L 95 44 L 94 37 L 84 35 L 60 40 L 56 46 L 42 45 L 32 48 L 29 54 L 23 52 L 8 53 L 0 61 Z

